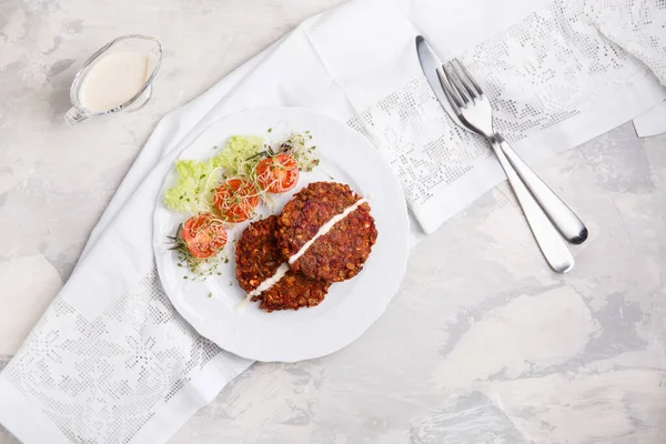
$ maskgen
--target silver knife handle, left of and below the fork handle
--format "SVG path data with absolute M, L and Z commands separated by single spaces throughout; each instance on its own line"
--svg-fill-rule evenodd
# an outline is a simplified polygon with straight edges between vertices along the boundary
M 557 273 L 566 273 L 572 270 L 574 268 L 574 258 L 566 248 L 564 240 L 559 236 L 559 233 L 546 213 L 544 213 L 532 193 L 529 193 L 529 190 L 527 190 L 525 183 L 523 183 L 517 172 L 512 167 L 502 150 L 501 143 L 491 139 L 491 144 L 500 160 L 500 164 L 508 178 L 508 183 L 511 183 L 511 186 L 518 199 L 518 203 L 532 229 L 534 239 L 548 262 L 548 265 Z

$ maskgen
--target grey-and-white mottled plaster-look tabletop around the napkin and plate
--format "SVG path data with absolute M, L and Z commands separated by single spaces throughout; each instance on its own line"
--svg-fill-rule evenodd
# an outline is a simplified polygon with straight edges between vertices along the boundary
M 0 369 L 160 117 L 340 2 L 0 3 Z M 77 67 L 131 32 L 165 48 L 154 99 L 68 128 Z M 359 341 L 255 364 L 172 442 L 664 442 L 666 135 L 637 139 L 627 123 L 536 171 L 591 228 L 573 272 L 549 272 L 503 183 L 412 251 Z

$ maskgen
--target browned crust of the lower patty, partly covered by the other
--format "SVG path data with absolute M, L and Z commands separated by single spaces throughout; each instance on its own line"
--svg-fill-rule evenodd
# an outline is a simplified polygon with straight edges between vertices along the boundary
M 241 289 L 248 293 L 275 274 L 284 262 L 275 238 L 278 228 L 275 215 L 252 222 L 236 243 L 236 279 Z M 268 312 L 299 310 L 322 302 L 329 286 L 329 282 L 313 280 L 290 270 L 278 283 L 253 300 L 261 301 L 260 309 Z

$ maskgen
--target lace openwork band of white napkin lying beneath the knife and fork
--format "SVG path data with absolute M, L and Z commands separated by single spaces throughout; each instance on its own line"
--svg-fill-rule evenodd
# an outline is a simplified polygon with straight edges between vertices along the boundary
M 588 10 L 583 1 L 554 1 L 460 56 L 492 99 L 495 129 L 508 142 L 556 127 L 649 72 L 599 32 Z M 655 39 L 640 29 L 633 32 L 637 41 L 649 40 L 645 52 L 652 48 L 654 53 Z M 423 77 L 361 110 L 347 124 L 384 154 L 412 208 L 491 155 L 484 141 L 448 120 Z

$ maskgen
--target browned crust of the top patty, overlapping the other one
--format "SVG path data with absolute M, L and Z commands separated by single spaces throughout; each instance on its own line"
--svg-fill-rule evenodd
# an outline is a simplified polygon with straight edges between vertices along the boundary
M 324 223 L 360 199 L 347 185 L 334 182 L 315 182 L 301 190 L 280 216 L 282 255 L 296 254 Z M 291 268 L 316 280 L 345 281 L 361 272 L 376 239 L 370 205 L 363 203 L 319 238 Z

